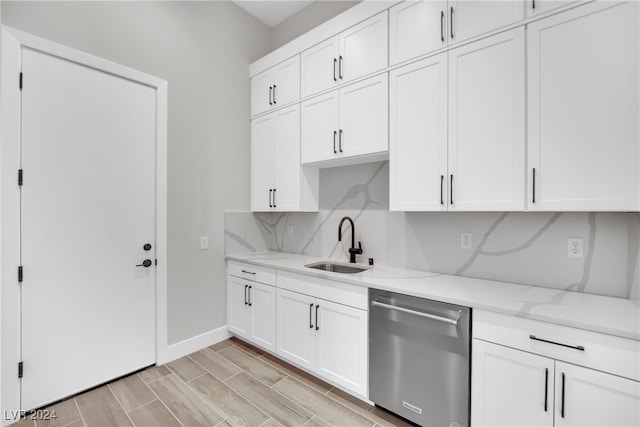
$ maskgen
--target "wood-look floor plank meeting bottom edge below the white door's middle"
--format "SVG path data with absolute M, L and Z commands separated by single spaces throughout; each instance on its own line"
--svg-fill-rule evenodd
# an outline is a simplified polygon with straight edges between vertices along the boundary
M 131 421 L 108 386 L 76 397 L 78 408 L 88 426 L 131 426 Z

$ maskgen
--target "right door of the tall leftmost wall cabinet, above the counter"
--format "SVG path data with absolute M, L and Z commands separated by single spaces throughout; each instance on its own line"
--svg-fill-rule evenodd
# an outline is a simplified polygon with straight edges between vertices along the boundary
M 274 207 L 300 210 L 300 106 L 277 111 L 274 139 Z

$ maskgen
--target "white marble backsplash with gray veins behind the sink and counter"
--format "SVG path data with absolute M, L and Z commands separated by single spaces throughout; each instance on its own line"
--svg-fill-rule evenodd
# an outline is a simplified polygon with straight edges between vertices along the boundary
M 267 250 L 640 300 L 640 214 L 593 212 L 389 212 L 388 163 L 320 171 L 317 213 L 225 214 L 227 254 Z M 460 233 L 473 236 L 460 247 Z M 584 239 L 584 257 L 567 240 Z

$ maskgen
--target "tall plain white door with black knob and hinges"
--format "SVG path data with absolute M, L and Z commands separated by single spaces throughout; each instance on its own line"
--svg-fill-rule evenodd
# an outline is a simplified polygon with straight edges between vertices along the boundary
M 156 92 L 28 48 L 22 71 L 27 410 L 155 362 Z

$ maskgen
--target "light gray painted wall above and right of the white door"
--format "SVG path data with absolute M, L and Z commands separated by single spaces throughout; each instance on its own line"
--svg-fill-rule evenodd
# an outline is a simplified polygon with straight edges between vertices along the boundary
M 169 82 L 169 342 L 224 326 L 223 213 L 249 208 L 248 66 L 270 50 L 271 30 L 231 2 L 1 8 L 2 24 Z

